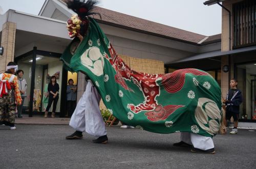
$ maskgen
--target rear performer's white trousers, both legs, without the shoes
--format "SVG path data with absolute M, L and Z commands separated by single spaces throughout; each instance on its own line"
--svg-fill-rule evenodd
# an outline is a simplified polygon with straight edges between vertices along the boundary
M 180 134 L 180 139 L 182 142 L 193 145 L 197 149 L 209 150 L 214 148 L 214 142 L 212 141 L 211 137 L 206 137 L 190 132 L 182 132 Z

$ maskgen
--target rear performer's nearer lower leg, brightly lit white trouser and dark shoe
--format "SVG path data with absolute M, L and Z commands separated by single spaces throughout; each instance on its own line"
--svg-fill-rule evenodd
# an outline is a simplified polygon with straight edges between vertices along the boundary
M 194 148 L 191 149 L 192 152 L 210 154 L 215 153 L 214 142 L 212 141 L 211 137 L 206 137 L 195 133 L 190 133 L 190 136 L 191 142 L 194 146 Z

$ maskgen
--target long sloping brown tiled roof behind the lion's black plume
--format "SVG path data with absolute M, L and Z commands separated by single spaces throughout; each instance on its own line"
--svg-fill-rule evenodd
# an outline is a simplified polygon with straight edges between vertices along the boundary
M 167 26 L 164 24 L 122 14 L 100 7 L 95 7 L 94 12 L 98 12 L 101 14 L 103 22 L 109 22 L 110 24 L 114 23 L 123 27 L 127 27 L 128 29 L 132 29 L 134 31 L 144 31 L 154 34 L 156 36 L 158 35 L 167 38 L 174 38 L 190 43 L 198 43 L 206 37 L 204 35 L 177 29 L 176 27 Z M 96 19 L 100 19 L 97 15 L 95 15 L 94 17 Z

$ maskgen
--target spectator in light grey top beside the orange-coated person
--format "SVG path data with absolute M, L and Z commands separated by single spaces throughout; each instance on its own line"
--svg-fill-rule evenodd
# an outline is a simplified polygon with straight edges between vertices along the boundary
M 17 75 L 18 75 L 18 88 L 20 91 L 20 96 L 22 97 L 22 104 L 17 106 L 17 111 L 18 111 L 18 118 L 22 118 L 22 109 L 23 109 L 23 104 L 24 104 L 24 100 L 27 97 L 27 81 L 25 78 L 23 78 L 24 75 L 24 71 L 23 70 L 18 70 L 17 71 Z

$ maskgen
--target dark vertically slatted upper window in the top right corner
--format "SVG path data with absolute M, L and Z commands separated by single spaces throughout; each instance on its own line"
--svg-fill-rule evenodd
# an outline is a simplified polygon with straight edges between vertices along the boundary
M 233 48 L 256 44 L 256 1 L 233 5 Z

